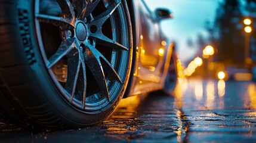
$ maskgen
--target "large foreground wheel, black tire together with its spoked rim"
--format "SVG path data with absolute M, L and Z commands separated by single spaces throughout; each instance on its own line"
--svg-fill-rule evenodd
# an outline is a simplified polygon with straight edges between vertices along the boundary
M 83 2 L 0 0 L 0 110 L 8 120 L 82 128 L 117 107 L 132 59 L 127 2 Z

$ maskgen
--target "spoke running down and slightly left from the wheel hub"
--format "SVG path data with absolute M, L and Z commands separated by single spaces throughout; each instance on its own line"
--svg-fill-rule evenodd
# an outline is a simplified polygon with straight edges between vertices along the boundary
M 81 65 L 81 58 L 78 55 L 72 58 L 68 58 L 67 60 L 68 68 L 67 68 L 67 82 L 65 85 L 65 89 L 70 94 L 70 102 L 73 101 L 73 97 L 75 94 L 80 65 Z

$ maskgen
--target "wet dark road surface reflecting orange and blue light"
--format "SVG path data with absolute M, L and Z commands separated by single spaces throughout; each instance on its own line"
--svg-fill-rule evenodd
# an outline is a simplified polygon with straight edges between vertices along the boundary
M 103 124 L 30 132 L 0 122 L 0 142 L 256 142 L 256 84 L 181 79 L 174 97 L 121 101 Z

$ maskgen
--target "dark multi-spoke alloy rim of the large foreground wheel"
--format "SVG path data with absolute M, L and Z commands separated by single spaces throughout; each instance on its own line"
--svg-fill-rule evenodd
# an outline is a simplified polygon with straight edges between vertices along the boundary
M 131 65 L 131 30 L 117 0 L 35 2 L 39 48 L 66 101 L 98 113 L 121 94 Z

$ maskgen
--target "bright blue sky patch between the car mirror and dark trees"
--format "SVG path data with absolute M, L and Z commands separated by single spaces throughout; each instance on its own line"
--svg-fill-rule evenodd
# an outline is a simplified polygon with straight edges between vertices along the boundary
M 162 21 L 165 34 L 177 43 L 177 52 L 181 62 L 194 58 L 199 47 L 187 46 L 187 39 L 196 42 L 198 34 L 208 36 L 205 21 L 214 22 L 215 11 L 221 0 L 144 0 L 150 9 L 168 8 L 175 17 Z

